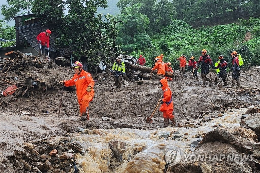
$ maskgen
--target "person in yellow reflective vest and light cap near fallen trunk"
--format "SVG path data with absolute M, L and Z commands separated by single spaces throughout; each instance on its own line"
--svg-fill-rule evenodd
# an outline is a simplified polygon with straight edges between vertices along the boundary
M 122 75 L 126 74 L 126 69 L 125 69 L 125 63 L 122 61 L 121 56 L 118 56 L 116 58 L 116 62 L 113 64 L 110 75 L 112 74 L 113 71 L 115 71 L 114 81 L 115 81 L 116 88 L 122 88 Z

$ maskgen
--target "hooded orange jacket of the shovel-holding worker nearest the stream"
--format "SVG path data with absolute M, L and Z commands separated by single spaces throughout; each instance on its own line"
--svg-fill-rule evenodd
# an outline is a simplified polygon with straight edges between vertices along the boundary
M 167 79 L 163 78 L 160 80 L 163 90 L 163 99 L 162 101 L 164 102 L 161 107 L 160 111 L 164 110 L 173 110 L 173 101 L 172 101 L 172 91 L 170 86 L 168 85 Z

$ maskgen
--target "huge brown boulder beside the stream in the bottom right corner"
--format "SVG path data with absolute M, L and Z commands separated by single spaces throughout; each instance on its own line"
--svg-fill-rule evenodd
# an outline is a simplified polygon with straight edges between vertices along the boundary
M 205 135 L 193 153 L 182 157 L 178 164 L 170 165 L 166 173 L 211 173 L 227 170 L 243 173 L 259 172 L 252 158 L 235 158 L 236 155 L 252 154 L 253 144 L 255 144 L 253 140 L 245 140 L 224 129 L 215 129 Z M 231 156 L 229 160 L 228 156 Z

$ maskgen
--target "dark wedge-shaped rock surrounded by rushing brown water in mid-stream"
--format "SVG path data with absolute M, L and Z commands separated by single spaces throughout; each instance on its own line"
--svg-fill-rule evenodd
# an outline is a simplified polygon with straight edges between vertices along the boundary
M 122 162 L 123 161 L 122 155 L 125 151 L 125 143 L 120 141 L 111 141 L 109 142 L 109 147 L 113 151 L 116 160 Z

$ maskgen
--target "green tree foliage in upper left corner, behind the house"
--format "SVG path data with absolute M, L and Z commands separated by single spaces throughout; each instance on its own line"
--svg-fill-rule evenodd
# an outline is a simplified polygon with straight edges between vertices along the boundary
M 33 0 L 6 0 L 7 5 L 2 5 L 1 14 L 5 16 L 6 21 L 14 19 L 20 11 L 22 13 L 29 13 L 31 11 L 31 5 Z

